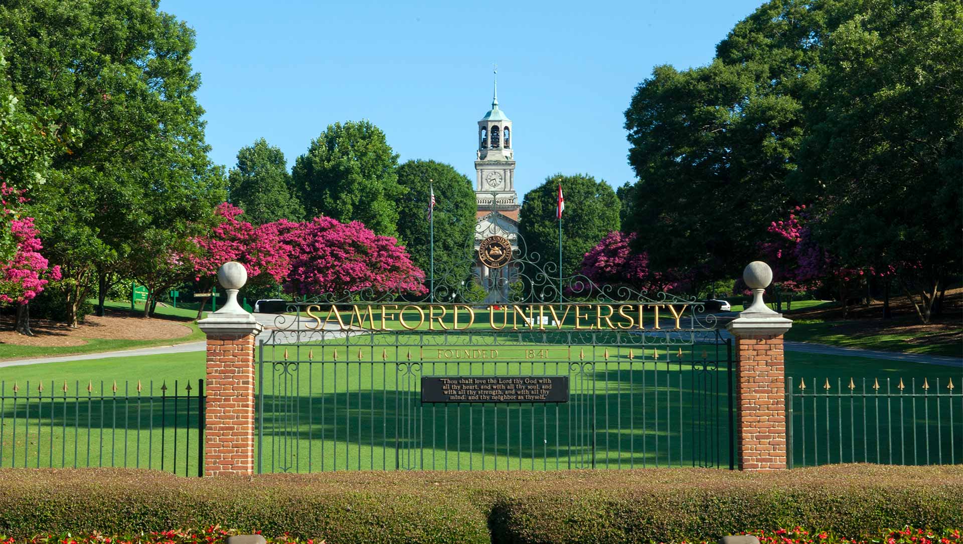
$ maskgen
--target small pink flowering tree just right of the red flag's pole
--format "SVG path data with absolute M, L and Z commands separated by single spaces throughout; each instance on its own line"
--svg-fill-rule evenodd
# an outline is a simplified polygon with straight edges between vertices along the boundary
M 652 271 L 648 254 L 633 250 L 636 237 L 612 231 L 586 253 L 579 273 L 597 285 L 630 285 L 649 292 L 676 287 L 673 274 Z

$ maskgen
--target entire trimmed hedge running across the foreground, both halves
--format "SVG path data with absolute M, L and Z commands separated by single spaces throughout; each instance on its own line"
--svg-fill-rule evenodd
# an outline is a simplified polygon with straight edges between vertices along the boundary
M 802 526 L 858 537 L 963 528 L 963 467 L 337 472 L 185 479 L 133 469 L 0 470 L 0 534 L 215 524 L 354 542 L 714 541 Z

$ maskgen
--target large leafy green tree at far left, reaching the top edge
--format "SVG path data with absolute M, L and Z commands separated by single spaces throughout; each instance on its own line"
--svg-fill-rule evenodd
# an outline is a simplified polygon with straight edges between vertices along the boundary
M 31 208 L 75 327 L 95 286 L 102 299 L 119 274 L 169 259 L 167 244 L 143 240 L 182 236 L 223 200 L 195 100 L 194 31 L 149 0 L 12 0 L 0 28 L 24 107 L 53 111 L 64 135 Z

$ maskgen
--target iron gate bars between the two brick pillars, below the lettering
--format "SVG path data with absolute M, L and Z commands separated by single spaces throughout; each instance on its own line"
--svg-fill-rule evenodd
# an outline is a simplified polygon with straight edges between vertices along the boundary
M 345 337 L 262 343 L 258 472 L 736 463 L 731 340 L 715 332 L 690 345 L 561 345 L 570 360 L 488 361 L 422 359 L 420 335 L 410 348 L 370 334 L 351 348 Z M 565 403 L 425 402 L 421 380 L 441 376 L 561 376 L 570 393 Z

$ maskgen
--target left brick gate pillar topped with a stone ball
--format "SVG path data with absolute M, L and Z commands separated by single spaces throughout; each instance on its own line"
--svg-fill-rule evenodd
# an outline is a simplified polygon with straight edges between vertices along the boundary
M 237 262 L 218 271 L 227 302 L 197 326 L 207 334 L 204 476 L 254 472 L 254 345 L 263 330 L 237 304 L 247 272 Z

